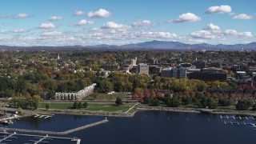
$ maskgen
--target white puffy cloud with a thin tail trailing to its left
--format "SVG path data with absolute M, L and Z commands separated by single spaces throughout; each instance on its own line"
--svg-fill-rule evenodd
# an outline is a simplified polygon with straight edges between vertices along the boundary
M 179 15 L 178 19 L 167 20 L 166 22 L 178 23 L 178 22 L 198 22 L 198 21 L 201 21 L 200 17 L 192 13 L 186 13 L 186 14 Z

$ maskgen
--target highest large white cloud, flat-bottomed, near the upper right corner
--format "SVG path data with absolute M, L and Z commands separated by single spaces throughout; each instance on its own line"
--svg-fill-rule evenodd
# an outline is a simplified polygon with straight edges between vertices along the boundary
M 206 14 L 223 14 L 223 13 L 230 13 L 231 12 L 231 6 L 228 5 L 222 5 L 222 6 L 210 6 L 206 10 Z

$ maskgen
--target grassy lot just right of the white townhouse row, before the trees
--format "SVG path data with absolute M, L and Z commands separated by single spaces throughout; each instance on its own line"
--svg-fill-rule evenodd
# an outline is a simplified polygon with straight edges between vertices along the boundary
M 82 100 L 116 100 L 118 97 L 122 98 L 122 100 L 126 100 L 129 94 L 98 94 L 98 97 L 94 99 L 91 95 L 87 96 L 86 98 L 82 98 Z

